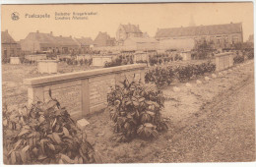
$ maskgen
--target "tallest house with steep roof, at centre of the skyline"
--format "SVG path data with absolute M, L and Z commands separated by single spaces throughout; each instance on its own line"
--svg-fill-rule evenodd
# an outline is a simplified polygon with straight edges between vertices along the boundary
M 143 37 L 143 35 L 139 25 L 120 25 L 116 31 L 116 40 L 118 43 L 122 44 L 122 42 L 129 37 Z

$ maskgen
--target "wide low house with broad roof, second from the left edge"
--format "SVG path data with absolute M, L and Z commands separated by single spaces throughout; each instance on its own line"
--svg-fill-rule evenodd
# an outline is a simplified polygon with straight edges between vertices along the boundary
M 54 36 L 52 32 L 42 33 L 38 30 L 30 32 L 25 39 L 21 41 L 23 51 L 36 52 L 52 52 L 57 54 L 67 54 L 77 52 L 80 45 L 72 36 Z

